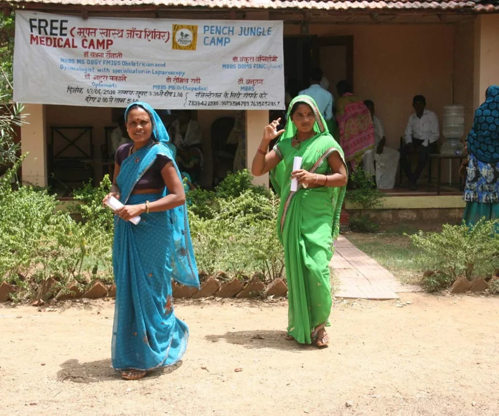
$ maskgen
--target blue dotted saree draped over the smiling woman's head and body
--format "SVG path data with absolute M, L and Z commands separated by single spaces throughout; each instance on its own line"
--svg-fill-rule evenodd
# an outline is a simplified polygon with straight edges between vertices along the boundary
M 168 133 L 158 114 L 148 104 L 133 105 L 149 113 L 153 142 L 121 164 L 117 185 L 120 201 L 128 205 L 167 195 L 166 187 L 162 194 L 155 195 L 132 195 L 132 191 L 158 155 L 167 156 L 175 164 Z M 137 225 L 116 217 L 113 268 L 116 282 L 113 367 L 149 371 L 177 363 L 186 351 L 189 328 L 175 316 L 172 279 L 199 288 L 186 205 L 144 214 Z

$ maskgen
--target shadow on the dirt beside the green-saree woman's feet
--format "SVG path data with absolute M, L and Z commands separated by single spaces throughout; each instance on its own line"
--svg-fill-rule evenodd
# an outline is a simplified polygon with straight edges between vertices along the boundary
M 227 332 L 224 335 L 208 335 L 206 339 L 211 342 L 226 341 L 245 348 L 272 348 L 283 351 L 304 351 L 313 349 L 310 345 L 301 345 L 294 341 L 284 339 L 284 331 L 237 331 Z

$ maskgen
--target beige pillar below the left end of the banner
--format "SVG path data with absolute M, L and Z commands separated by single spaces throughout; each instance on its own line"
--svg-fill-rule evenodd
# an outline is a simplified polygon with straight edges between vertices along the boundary
M 47 143 L 45 131 L 45 106 L 26 104 L 26 124 L 21 126 L 21 152 L 29 155 L 22 162 L 22 182 L 46 187 Z

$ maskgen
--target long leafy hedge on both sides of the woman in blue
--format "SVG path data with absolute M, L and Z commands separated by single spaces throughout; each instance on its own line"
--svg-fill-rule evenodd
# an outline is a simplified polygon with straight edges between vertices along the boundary
M 21 161 L 0 180 L 0 282 L 16 284 L 18 300 L 31 298 L 48 278 L 67 290 L 73 281 L 88 286 L 111 282 L 113 214 L 102 207 L 111 182 L 85 184 L 73 195 L 72 212 L 56 212 L 58 201 L 46 190 L 10 180 Z M 210 275 L 262 279 L 284 277 L 284 252 L 277 238 L 278 198 L 251 185 L 248 172 L 230 175 L 215 192 L 193 191 L 189 217 L 200 270 Z

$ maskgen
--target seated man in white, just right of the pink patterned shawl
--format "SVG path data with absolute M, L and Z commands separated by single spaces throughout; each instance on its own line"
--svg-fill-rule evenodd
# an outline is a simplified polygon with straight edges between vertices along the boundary
M 373 118 L 376 142 L 374 150 L 368 150 L 362 156 L 363 168 L 373 176 L 376 175 L 376 186 L 379 189 L 393 189 L 400 153 L 395 149 L 385 146 L 385 130 L 383 129 L 381 120 L 374 115 L 374 102 L 366 100 L 364 104 L 369 108 L 369 112 Z

